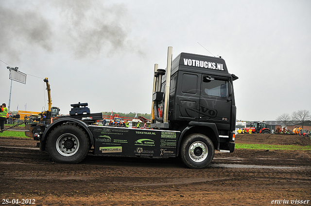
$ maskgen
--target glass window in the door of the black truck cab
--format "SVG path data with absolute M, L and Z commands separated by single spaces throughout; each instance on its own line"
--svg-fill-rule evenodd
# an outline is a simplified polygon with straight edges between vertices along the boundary
M 203 80 L 202 94 L 208 96 L 228 97 L 229 96 L 228 85 L 229 85 L 228 81 L 221 79 L 214 79 L 210 81 Z

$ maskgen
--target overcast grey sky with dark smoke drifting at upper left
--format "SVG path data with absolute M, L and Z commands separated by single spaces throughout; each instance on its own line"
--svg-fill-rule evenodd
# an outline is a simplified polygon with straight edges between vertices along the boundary
M 173 58 L 222 56 L 239 77 L 239 120 L 311 111 L 310 19 L 310 0 L 0 0 L 0 102 L 9 64 L 27 74 L 11 111 L 47 108 L 47 77 L 62 114 L 78 102 L 151 113 L 154 64 L 166 67 L 171 46 Z

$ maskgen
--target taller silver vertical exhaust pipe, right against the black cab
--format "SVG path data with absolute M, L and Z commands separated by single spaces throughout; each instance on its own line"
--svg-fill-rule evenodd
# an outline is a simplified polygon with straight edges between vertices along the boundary
M 172 57 L 173 57 L 173 47 L 169 47 L 168 52 L 167 52 L 166 86 L 165 86 L 165 97 L 164 97 L 164 115 L 163 115 L 164 123 L 169 122 L 169 101 L 170 101 L 170 88 L 171 88 Z

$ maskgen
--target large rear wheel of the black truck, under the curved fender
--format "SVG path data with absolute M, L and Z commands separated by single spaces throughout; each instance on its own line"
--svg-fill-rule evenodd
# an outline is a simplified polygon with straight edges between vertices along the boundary
M 89 151 L 90 143 L 84 130 L 72 124 L 55 127 L 47 139 L 47 150 L 58 163 L 81 162 Z

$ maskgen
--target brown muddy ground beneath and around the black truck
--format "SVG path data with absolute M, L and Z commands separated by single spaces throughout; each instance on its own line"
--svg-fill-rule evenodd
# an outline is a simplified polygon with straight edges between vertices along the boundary
M 236 149 L 193 170 L 178 158 L 88 155 L 77 165 L 56 164 L 36 143 L 0 138 L 1 205 L 311 206 L 311 151 Z M 261 134 L 237 135 L 236 143 L 311 145 L 309 138 Z

